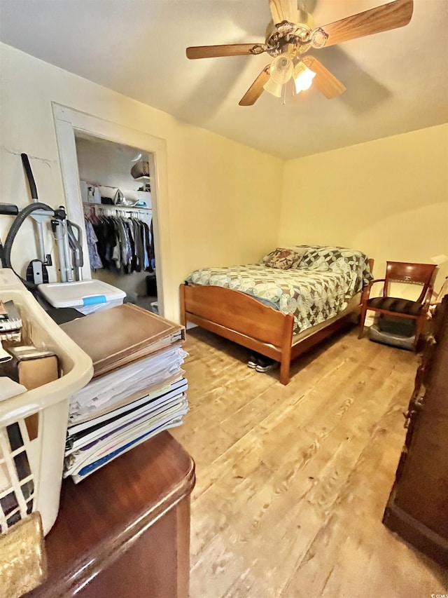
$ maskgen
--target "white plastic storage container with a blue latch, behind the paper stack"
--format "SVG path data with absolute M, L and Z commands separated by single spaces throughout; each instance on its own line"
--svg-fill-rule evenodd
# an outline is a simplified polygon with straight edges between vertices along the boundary
M 123 303 L 126 293 L 102 280 L 80 280 L 74 283 L 45 283 L 39 292 L 53 307 L 73 307 L 92 313 Z

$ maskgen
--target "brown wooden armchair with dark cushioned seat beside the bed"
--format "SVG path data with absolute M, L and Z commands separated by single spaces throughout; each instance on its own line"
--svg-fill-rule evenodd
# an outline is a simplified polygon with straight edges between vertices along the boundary
M 370 309 L 377 313 L 385 313 L 395 317 L 412 318 L 412 320 L 415 320 L 414 351 L 416 351 L 419 337 L 423 330 L 423 324 L 426 320 L 430 298 L 433 294 L 433 282 L 436 267 L 437 266 L 433 264 L 410 264 L 407 261 L 388 261 L 386 278 L 372 280 L 363 290 L 358 339 L 363 337 L 365 314 L 367 313 L 367 309 Z M 381 297 L 372 297 L 372 299 L 370 299 L 372 285 L 379 282 L 384 282 Z M 409 299 L 391 297 L 389 295 L 390 283 L 422 285 L 423 289 L 421 290 L 419 298 L 416 301 L 411 301 Z

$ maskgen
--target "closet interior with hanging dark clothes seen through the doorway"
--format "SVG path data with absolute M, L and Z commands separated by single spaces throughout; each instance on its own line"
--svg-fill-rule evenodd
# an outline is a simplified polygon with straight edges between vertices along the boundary
M 92 278 L 158 313 L 148 152 L 75 131 Z

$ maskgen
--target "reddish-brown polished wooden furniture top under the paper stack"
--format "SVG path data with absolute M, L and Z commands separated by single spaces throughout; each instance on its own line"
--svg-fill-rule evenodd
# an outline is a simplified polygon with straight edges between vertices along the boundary
M 48 580 L 27 597 L 188 597 L 192 458 L 167 432 L 62 484 Z

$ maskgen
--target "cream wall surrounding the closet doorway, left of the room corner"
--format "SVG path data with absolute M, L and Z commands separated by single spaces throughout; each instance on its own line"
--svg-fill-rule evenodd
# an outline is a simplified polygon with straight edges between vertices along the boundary
M 178 285 L 207 264 L 258 259 L 276 245 L 283 162 L 0 45 L 0 201 L 30 202 L 20 153 L 29 155 L 39 198 L 64 203 L 51 102 L 147 132 L 167 142 L 172 283 L 167 313 L 179 314 Z M 4 240 L 10 220 L 0 217 Z M 48 247 L 50 245 L 48 244 Z M 24 225 L 12 261 L 24 274 L 36 257 Z

